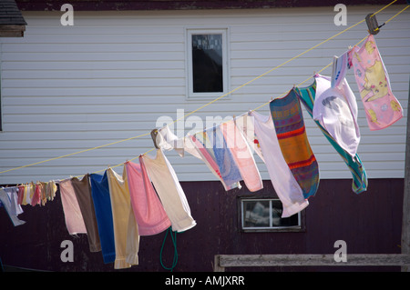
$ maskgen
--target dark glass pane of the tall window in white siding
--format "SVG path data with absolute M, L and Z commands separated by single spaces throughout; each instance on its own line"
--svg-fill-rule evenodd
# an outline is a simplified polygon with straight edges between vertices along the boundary
M 194 93 L 223 92 L 222 35 L 192 35 Z

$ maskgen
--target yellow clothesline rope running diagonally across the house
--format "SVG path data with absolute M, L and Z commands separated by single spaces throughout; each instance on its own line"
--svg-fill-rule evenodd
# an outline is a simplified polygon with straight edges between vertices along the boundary
M 378 11 L 374 12 L 373 15 L 377 15 L 378 13 L 382 12 L 385 8 L 387 8 L 387 7 L 390 6 L 390 5 L 393 5 L 396 1 L 397 1 L 397 0 L 394 0 L 394 1 L 392 1 L 390 4 L 385 5 L 383 8 L 381 8 L 381 9 L 379 9 Z M 399 11 L 397 14 L 395 14 L 394 16 L 392 16 L 390 19 L 388 19 L 388 20 L 385 22 L 385 24 L 388 23 L 389 21 L 391 21 L 392 19 L 394 19 L 397 15 L 400 15 L 402 12 L 404 12 L 405 9 L 407 9 L 409 6 L 410 6 L 410 5 L 407 5 L 404 9 L 402 9 L 402 10 Z M 373 16 L 373 15 L 372 15 L 372 16 Z M 276 70 L 276 69 L 282 67 L 283 65 L 286 65 L 286 64 L 292 62 L 292 60 L 297 59 L 297 58 L 299 58 L 299 57 L 302 56 L 302 55 L 307 54 L 308 52 L 312 51 L 313 49 L 317 48 L 318 46 L 323 45 L 324 43 L 326 43 L 326 42 L 332 40 L 332 39 L 335 38 L 336 36 L 342 35 L 343 33 L 345 33 L 346 31 L 348 31 L 348 30 L 354 28 L 355 26 L 364 23 L 364 21 L 365 21 L 365 19 L 359 21 L 358 23 L 356 23 L 356 24 L 354 24 L 354 25 L 352 25 L 352 26 L 350 26 L 350 27 L 345 28 L 343 31 L 341 31 L 341 32 L 339 32 L 339 33 L 337 33 L 337 34 L 335 34 L 335 35 L 333 35 L 333 36 L 331 36 L 331 37 L 329 37 L 329 38 L 323 40 L 321 43 L 319 43 L 319 44 L 317 44 L 317 45 L 313 45 L 311 48 L 305 50 L 305 51 L 302 52 L 301 54 L 293 56 L 291 59 L 289 59 L 289 60 L 283 62 L 281 65 L 277 65 L 277 66 L 273 67 L 273 68 L 270 69 L 269 71 L 267 71 L 267 72 L 265 72 L 265 73 L 263 73 L 263 74 L 261 74 L 261 75 L 258 75 L 257 77 L 251 79 L 250 81 L 246 82 L 245 84 L 240 85 L 240 86 L 234 88 L 234 89 L 231 90 L 230 92 L 228 92 L 228 93 L 226 93 L 226 94 L 224 94 L 224 95 L 220 95 L 219 97 L 213 99 L 213 100 L 210 101 L 209 103 L 200 106 L 200 107 L 197 108 L 196 110 L 193 110 L 192 112 L 190 112 L 190 113 L 188 113 L 188 114 L 186 114 L 186 115 L 183 115 L 183 116 L 179 117 L 177 120 L 173 121 L 173 122 L 170 123 L 170 124 L 176 123 L 176 122 L 178 122 L 180 119 L 185 118 L 185 117 L 187 117 L 187 116 L 189 116 L 189 115 L 192 115 L 192 114 L 194 114 L 194 113 L 200 111 L 200 110 L 203 109 L 204 107 L 206 107 L 206 106 L 208 106 L 208 105 L 211 105 L 211 104 L 213 104 L 213 103 L 219 101 L 221 98 L 223 98 L 223 97 L 225 97 L 225 96 L 227 96 L 227 95 L 231 95 L 232 93 L 238 91 L 239 89 L 241 89 L 242 87 L 244 87 L 244 86 L 246 86 L 246 85 L 250 85 L 250 84 L 253 83 L 254 81 L 256 81 L 256 80 L 258 80 L 259 78 L 263 77 L 264 75 L 268 75 L 268 74 L 272 73 L 274 70 Z M 331 65 L 331 64 L 330 64 L 330 65 Z M 328 66 L 329 66 L 329 65 L 326 65 L 321 71 L 323 71 L 323 70 L 324 70 L 325 68 L 327 68 Z M 320 72 L 321 72 L 321 71 L 320 71 Z M 302 85 L 303 83 L 305 83 L 305 82 L 308 81 L 308 80 L 309 80 L 309 78 L 306 79 L 305 81 L 303 81 L 303 82 L 302 82 L 301 84 L 299 84 L 299 85 Z M 284 93 L 284 94 L 286 94 L 286 93 Z M 282 95 L 284 95 L 284 94 L 282 94 Z M 259 108 L 261 108 L 262 106 L 267 105 L 267 104 L 268 104 L 268 103 L 265 103 L 265 104 L 259 106 L 258 108 L 253 109 L 253 111 L 255 111 L 255 110 L 257 110 L 257 109 L 259 109 Z M 99 146 L 96 146 L 96 147 L 87 148 L 87 149 L 85 149 L 85 150 L 77 151 L 77 152 L 74 152 L 74 153 L 71 153 L 71 154 L 67 154 L 67 155 L 60 155 L 60 156 L 57 156 L 57 157 L 49 158 L 49 159 L 46 159 L 46 160 L 43 160 L 43 161 L 39 161 L 39 162 L 36 162 L 36 163 L 33 163 L 33 164 L 29 164 L 29 165 L 17 166 L 17 167 L 14 167 L 14 168 L 10 168 L 10 169 L 1 171 L 0 174 L 4 174 L 4 173 L 6 173 L 6 172 L 10 172 L 10 171 L 14 171 L 14 170 L 18 170 L 18 169 L 22 169 L 22 168 L 34 166 L 34 165 L 44 164 L 44 163 L 46 163 L 46 162 L 58 160 L 58 159 L 61 159 L 61 158 L 66 158 L 66 157 L 69 157 L 69 156 L 72 156 L 72 155 L 78 155 L 78 154 L 86 153 L 86 152 L 88 152 L 88 151 L 96 150 L 96 149 L 103 148 L 103 147 L 106 147 L 106 146 L 109 146 L 109 145 L 116 145 L 116 144 L 119 144 L 119 143 L 122 143 L 122 142 L 126 142 L 126 141 L 129 141 L 129 140 L 138 139 L 138 138 L 140 138 L 140 137 L 147 136 L 147 135 L 150 135 L 150 133 L 146 133 L 146 134 L 137 135 L 137 136 L 129 137 L 129 138 L 126 138 L 126 139 L 118 140 L 118 141 L 116 141 L 116 142 L 108 143 L 108 144 L 106 144 L 106 145 L 99 145 Z M 149 152 L 153 151 L 154 149 L 155 149 L 155 148 L 150 149 L 149 151 L 147 151 L 146 153 L 144 153 L 144 155 L 145 155 L 145 154 L 148 154 Z M 135 160 L 135 159 L 137 159 L 137 158 L 138 158 L 138 157 L 135 157 L 135 158 L 130 159 L 130 160 Z M 120 165 L 122 165 L 122 164 L 116 165 L 116 166 L 114 166 L 114 167 L 117 167 L 117 166 L 120 166 Z M 97 171 L 96 173 L 102 172 L 102 171 L 104 171 L 104 170 Z

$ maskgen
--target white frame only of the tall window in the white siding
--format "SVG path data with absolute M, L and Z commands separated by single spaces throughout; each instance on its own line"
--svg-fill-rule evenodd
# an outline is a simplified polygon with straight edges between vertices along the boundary
M 186 32 L 186 80 L 187 80 L 187 99 L 200 100 L 200 99 L 214 99 L 220 95 L 226 95 L 230 90 L 230 60 L 228 52 L 230 51 L 229 41 L 229 28 L 198 28 L 187 27 Z M 193 92 L 193 73 L 192 73 L 192 35 L 222 35 L 222 82 L 223 92 L 211 92 L 211 93 L 194 93 Z M 224 99 L 230 98 L 230 95 L 226 95 Z

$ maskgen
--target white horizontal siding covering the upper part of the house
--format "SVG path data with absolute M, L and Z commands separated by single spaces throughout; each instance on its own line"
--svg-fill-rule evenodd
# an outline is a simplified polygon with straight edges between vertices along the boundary
M 404 5 L 377 15 L 379 23 Z M 0 171 L 149 133 L 159 117 L 177 118 L 206 104 L 187 99 L 186 28 L 229 31 L 230 86 L 235 89 L 276 65 L 364 19 L 381 6 L 347 7 L 347 26 L 333 24 L 333 7 L 261 10 L 77 12 L 74 26 L 62 12 L 24 13 L 23 38 L 0 38 L 2 121 Z M 410 9 L 375 36 L 395 96 L 407 112 Z M 241 87 L 195 116 L 241 115 L 288 92 L 367 34 L 365 23 Z M 330 75 L 330 67 L 323 75 Z M 352 72 L 347 80 L 354 93 Z M 304 85 L 310 85 L 311 78 Z M 215 95 L 215 98 L 220 95 Z M 403 178 L 405 118 L 377 132 L 367 128 L 359 98 L 359 155 L 369 178 Z M 268 114 L 269 105 L 259 112 Z M 303 112 L 306 113 L 303 109 Z M 305 114 L 321 178 L 352 178 L 341 157 Z M 186 127 L 186 132 L 190 127 Z M 147 152 L 149 135 L 0 175 L 0 184 L 63 179 L 102 171 Z M 152 152 L 150 153 L 153 154 Z M 193 156 L 167 152 L 180 181 L 215 180 Z M 255 155 L 261 175 L 266 166 Z M 118 169 L 118 170 L 117 170 Z M 122 166 L 116 168 L 122 172 Z

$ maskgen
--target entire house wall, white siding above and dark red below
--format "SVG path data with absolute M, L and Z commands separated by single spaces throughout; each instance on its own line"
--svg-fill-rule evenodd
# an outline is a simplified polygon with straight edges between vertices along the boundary
M 348 25 L 380 7 L 348 7 Z M 402 7 L 393 5 L 384 10 L 378 16 L 379 23 Z M 405 114 L 409 14 L 406 11 L 399 15 L 376 36 Z M 75 25 L 71 27 L 60 25 L 60 15 L 25 12 L 25 37 L 1 39 L 2 171 L 147 134 L 160 116 L 176 119 L 178 109 L 188 113 L 204 105 L 204 100 L 186 98 L 186 27 L 229 28 L 231 89 L 346 27 L 333 25 L 333 7 L 76 12 Z M 262 105 L 309 78 L 331 63 L 333 55 L 342 54 L 348 45 L 365 35 L 365 24 L 357 25 L 195 115 L 203 119 L 207 115 L 240 115 Z M 330 69 L 323 74 L 329 75 Z M 311 81 L 312 78 L 306 84 Z M 357 92 L 352 74 L 348 75 L 348 82 Z M 352 193 L 350 172 L 310 116 L 305 115 L 309 140 L 321 170 L 321 184 L 303 210 L 305 230 L 301 233 L 241 232 L 238 197 L 249 195 L 246 187 L 225 192 L 206 165 L 191 156 L 180 158 L 167 153 L 198 223 L 178 234 L 179 261 L 175 271 L 211 271 L 216 254 L 332 254 L 333 243 L 340 239 L 346 241 L 348 253 L 400 253 L 405 118 L 383 131 L 370 132 L 363 105 L 358 105 L 362 133 L 359 155 L 369 176 L 368 191 L 360 195 Z M 259 111 L 268 114 L 268 107 Z M 144 136 L 10 171 L 0 175 L 0 184 L 48 181 L 101 171 L 151 148 L 150 137 Z M 264 179 L 263 193 L 274 196 L 266 168 L 257 161 Z M 46 206 L 26 205 L 24 210 L 20 217 L 27 221 L 26 225 L 14 227 L 0 208 L 0 257 L 5 265 L 50 271 L 114 271 L 113 265 L 103 264 L 100 253 L 89 252 L 86 235 L 68 235 L 58 193 L 56 200 Z M 141 237 L 139 265 L 120 271 L 164 271 L 159 263 L 164 235 Z M 73 263 L 60 259 L 64 240 L 74 243 Z M 166 242 L 164 264 L 170 265 L 173 249 L 170 240 Z

